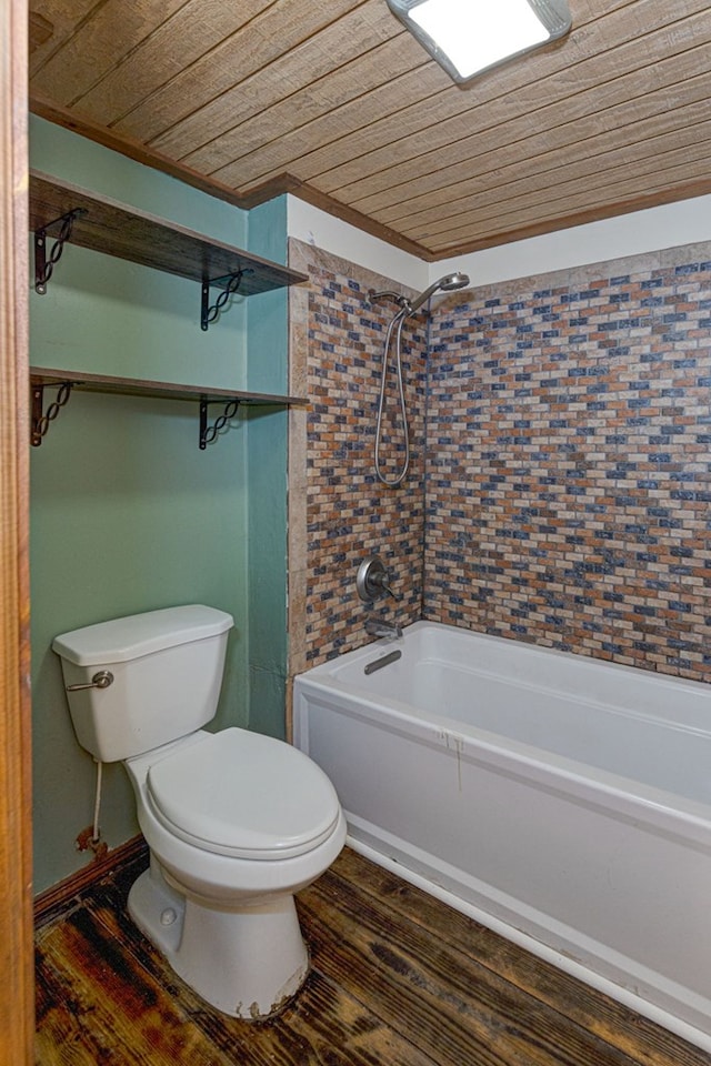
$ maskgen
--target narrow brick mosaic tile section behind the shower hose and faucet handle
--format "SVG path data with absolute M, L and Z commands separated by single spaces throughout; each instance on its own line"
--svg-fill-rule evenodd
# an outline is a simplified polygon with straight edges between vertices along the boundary
M 423 543 L 424 335 L 408 324 L 402 356 L 410 408 L 410 473 L 389 489 L 374 475 L 373 449 L 387 324 L 395 305 L 369 302 L 365 272 L 309 263 L 307 431 L 307 665 L 365 643 L 371 616 L 402 625 L 420 616 Z M 392 477 L 402 426 L 392 368 L 382 462 Z M 380 555 L 402 601 L 373 609 L 358 597 L 363 559 Z

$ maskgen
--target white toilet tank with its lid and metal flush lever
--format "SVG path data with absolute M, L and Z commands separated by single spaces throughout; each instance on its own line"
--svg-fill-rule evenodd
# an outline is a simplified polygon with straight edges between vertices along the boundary
M 100 622 L 52 642 L 77 740 L 101 762 L 152 751 L 214 717 L 231 615 L 198 604 Z M 107 687 L 92 686 L 109 673 Z

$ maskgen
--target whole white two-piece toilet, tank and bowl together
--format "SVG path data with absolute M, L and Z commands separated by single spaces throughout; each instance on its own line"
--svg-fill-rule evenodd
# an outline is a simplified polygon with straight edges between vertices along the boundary
M 220 1010 L 274 1014 L 309 966 L 293 893 L 346 839 L 326 774 L 244 730 L 208 733 L 232 619 L 170 607 L 58 636 L 82 747 L 123 760 L 151 865 L 129 913 L 173 969 Z

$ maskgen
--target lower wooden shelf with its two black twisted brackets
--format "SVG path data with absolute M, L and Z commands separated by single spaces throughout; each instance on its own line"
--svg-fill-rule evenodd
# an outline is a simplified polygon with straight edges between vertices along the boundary
M 67 404 L 73 390 L 82 392 L 113 393 L 124 396 L 152 396 L 159 400 L 192 400 L 199 404 L 200 424 L 198 444 L 204 450 L 216 440 L 218 431 L 233 418 L 241 404 L 250 406 L 286 408 L 308 404 L 301 396 L 284 396 L 266 392 L 248 392 L 240 389 L 211 389 L 201 385 L 181 385 L 172 381 L 146 381 L 140 378 L 113 378 L 106 374 L 82 374 L 73 370 L 50 370 L 44 366 L 30 368 L 32 391 L 32 435 L 31 442 L 39 446 L 49 425 Z M 44 386 L 59 389 L 58 398 L 44 413 Z M 213 403 L 224 405 L 224 415 L 208 425 L 208 406 Z M 217 423 L 221 422 L 221 425 Z

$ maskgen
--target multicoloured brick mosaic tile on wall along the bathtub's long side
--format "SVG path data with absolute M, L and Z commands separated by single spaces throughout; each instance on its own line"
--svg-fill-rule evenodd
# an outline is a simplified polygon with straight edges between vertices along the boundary
M 432 324 L 425 616 L 711 680 L 711 263 L 469 295 Z

